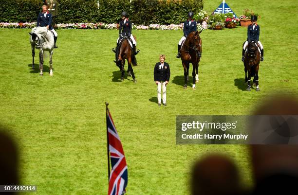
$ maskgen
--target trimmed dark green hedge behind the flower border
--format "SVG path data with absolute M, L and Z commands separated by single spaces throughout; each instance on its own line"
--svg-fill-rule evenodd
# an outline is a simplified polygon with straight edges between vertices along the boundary
M 0 22 L 33 22 L 42 0 L 0 0 Z M 122 11 L 134 24 L 179 24 L 189 11 L 203 9 L 203 0 L 58 0 L 57 23 L 117 23 Z

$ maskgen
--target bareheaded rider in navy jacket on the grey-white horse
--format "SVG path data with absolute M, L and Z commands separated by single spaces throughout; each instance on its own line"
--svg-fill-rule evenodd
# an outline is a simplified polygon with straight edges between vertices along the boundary
M 36 26 L 37 27 L 38 26 L 47 27 L 50 31 L 52 31 L 53 34 L 54 34 L 54 41 L 55 41 L 55 47 L 54 48 L 58 48 L 56 46 L 56 41 L 57 41 L 58 34 L 56 33 L 55 29 L 52 26 L 52 21 L 53 21 L 52 14 L 48 12 L 47 6 L 43 5 L 42 6 L 42 12 L 40 12 L 38 14 L 38 17 L 37 17 Z

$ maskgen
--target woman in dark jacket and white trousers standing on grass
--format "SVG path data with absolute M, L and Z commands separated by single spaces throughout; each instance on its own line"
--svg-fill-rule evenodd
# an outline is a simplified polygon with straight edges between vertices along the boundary
M 170 77 L 169 65 L 165 62 L 164 54 L 159 55 L 160 62 L 157 62 L 154 67 L 154 81 L 157 85 L 157 102 L 161 105 L 161 89 L 163 88 L 163 104 L 167 106 L 167 85 Z M 162 87 L 163 86 L 163 87 Z

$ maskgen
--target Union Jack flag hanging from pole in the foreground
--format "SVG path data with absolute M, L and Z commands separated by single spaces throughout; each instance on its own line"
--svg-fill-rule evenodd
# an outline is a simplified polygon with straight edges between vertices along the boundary
M 109 111 L 107 112 L 107 128 L 112 164 L 108 195 L 123 195 L 126 193 L 125 188 L 128 182 L 127 164 L 119 135 Z

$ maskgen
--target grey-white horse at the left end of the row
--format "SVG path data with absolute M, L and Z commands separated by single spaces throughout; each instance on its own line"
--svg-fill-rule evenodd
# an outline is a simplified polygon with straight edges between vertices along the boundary
M 34 66 L 34 56 L 35 56 L 35 48 L 39 49 L 39 70 L 40 75 L 43 73 L 43 53 L 48 51 L 50 53 L 50 76 L 53 76 L 53 64 L 52 64 L 52 56 L 54 53 L 54 35 L 53 33 L 47 29 L 46 27 L 35 27 L 29 33 L 30 43 L 32 49 L 32 69 L 35 69 Z

